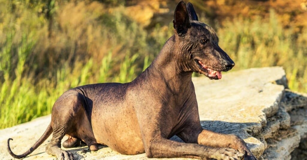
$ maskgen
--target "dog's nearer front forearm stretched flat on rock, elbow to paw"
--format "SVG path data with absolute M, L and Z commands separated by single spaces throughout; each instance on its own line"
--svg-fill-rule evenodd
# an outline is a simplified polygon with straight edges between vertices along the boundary
M 147 148 L 147 149 L 146 149 Z M 165 138 L 155 138 L 145 148 L 148 158 L 198 158 L 239 160 L 243 154 L 231 148 L 213 148 L 199 144 L 180 143 Z

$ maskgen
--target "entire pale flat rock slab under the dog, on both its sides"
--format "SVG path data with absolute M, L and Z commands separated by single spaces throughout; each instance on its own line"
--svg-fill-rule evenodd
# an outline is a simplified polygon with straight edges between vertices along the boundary
M 266 149 L 266 142 L 261 138 L 261 129 L 266 125 L 266 117 L 278 111 L 284 92 L 284 86 L 276 84 L 286 84 L 282 67 L 235 71 L 224 74 L 218 81 L 204 76 L 192 80 L 202 126 L 212 131 L 240 136 L 255 156 L 259 157 Z M 50 115 L 0 130 L 0 159 L 14 159 L 6 150 L 8 138 L 14 139 L 11 141 L 13 152 L 21 154 L 39 139 L 49 122 Z M 63 141 L 66 139 L 64 137 Z M 172 139 L 180 141 L 178 137 Z M 24 159 L 56 159 L 45 153 L 50 140 L 51 136 Z M 91 152 L 86 146 L 65 150 L 72 151 L 78 159 L 147 159 L 145 154 L 122 155 L 107 146 L 99 148 L 96 152 Z

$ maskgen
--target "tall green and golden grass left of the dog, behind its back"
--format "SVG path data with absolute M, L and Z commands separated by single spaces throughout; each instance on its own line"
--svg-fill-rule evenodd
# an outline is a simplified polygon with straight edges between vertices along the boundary
M 161 48 L 123 6 L 46 2 L 0 0 L 0 128 L 49 114 L 72 87 L 131 81 Z

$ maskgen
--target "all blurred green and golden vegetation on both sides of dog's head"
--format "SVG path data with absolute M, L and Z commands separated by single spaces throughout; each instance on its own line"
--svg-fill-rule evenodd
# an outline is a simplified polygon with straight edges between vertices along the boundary
M 72 87 L 130 82 L 149 66 L 173 34 L 172 23 L 144 29 L 123 4 L 0 0 L 0 128 L 49 114 Z M 278 18 L 271 10 L 266 19 L 211 25 L 234 70 L 283 66 L 289 87 L 307 92 L 307 29 L 284 29 Z

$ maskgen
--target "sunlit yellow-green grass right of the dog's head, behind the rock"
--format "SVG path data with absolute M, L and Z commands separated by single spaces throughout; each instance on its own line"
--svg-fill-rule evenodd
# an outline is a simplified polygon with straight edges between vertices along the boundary
M 282 66 L 289 88 L 307 92 L 307 28 L 301 32 L 284 29 L 278 20 L 270 10 L 268 19 L 226 21 L 218 29 L 220 46 L 235 61 L 234 70 Z

